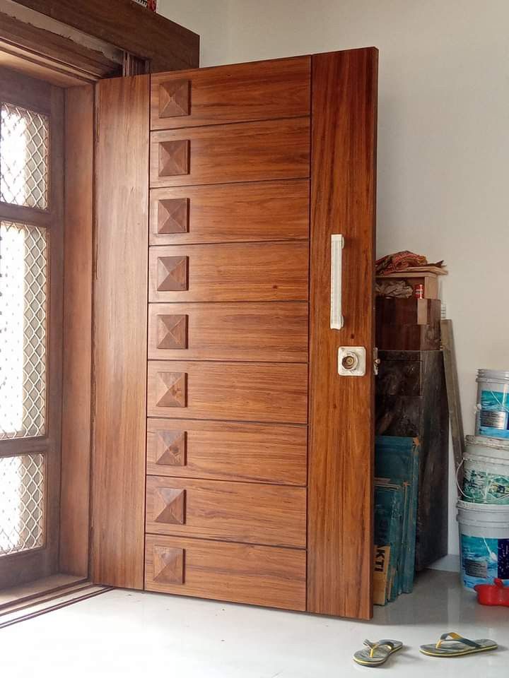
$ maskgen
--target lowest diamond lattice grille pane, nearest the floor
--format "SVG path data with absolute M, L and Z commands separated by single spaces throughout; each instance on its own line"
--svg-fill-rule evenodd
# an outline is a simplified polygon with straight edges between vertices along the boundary
M 0 458 L 0 557 L 44 542 L 44 456 Z

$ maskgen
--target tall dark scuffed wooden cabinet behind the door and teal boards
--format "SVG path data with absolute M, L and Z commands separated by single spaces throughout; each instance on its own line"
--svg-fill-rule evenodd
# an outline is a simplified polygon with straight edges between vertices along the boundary
M 402 299 L 397 299 L 402 301 Z M 447 554 L 449 412 L 441 351 L 380 351 L 376 427 L 418 438 L 416 569 Z

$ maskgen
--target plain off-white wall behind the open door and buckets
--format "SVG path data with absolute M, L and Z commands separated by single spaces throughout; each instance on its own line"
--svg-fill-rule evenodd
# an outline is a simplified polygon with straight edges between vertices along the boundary
M 203 66 L 380 49 L 378 252 L 445 259 L 472 433 L 476 369 L 509 369 L 507 0 L 167 0 L 162 10 L 201 34 Z

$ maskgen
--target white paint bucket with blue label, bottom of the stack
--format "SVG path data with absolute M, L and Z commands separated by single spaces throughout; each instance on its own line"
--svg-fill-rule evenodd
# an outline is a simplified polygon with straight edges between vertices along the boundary
M 457 510 L 464 587 L 496 578 L 509 585 L 509 506 L 458 501 Z

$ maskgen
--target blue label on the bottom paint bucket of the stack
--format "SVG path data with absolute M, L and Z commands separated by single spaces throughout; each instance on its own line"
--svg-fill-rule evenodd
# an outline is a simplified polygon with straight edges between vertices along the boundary
M 467 588 L 493 583 L 509 585 L 509 539 L 461 535 L 462 577 Z

